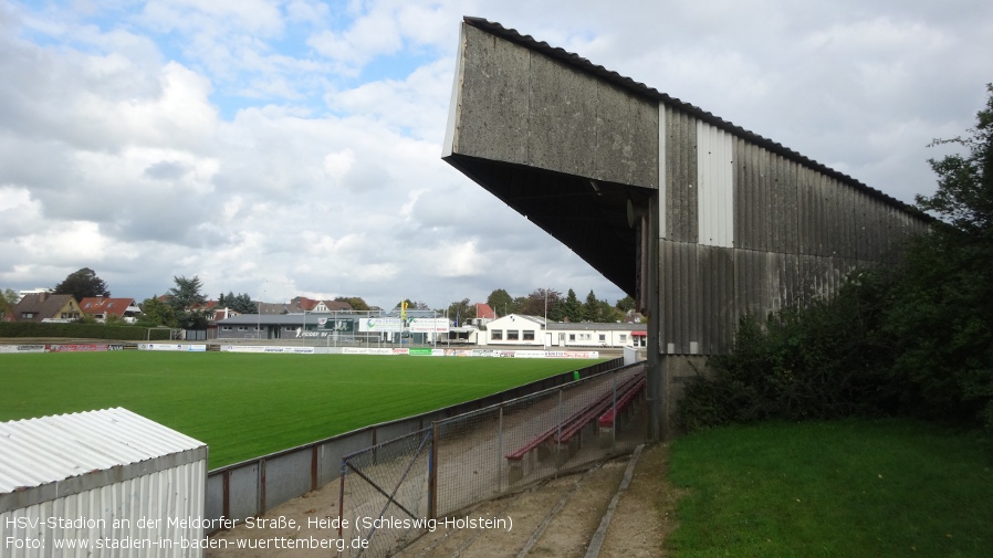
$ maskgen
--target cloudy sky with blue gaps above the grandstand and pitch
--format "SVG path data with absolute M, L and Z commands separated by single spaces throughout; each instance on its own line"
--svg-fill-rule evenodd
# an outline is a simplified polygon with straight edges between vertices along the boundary
M 989 0 L 0 0 L 0 287 L 615 302 L 441 161 L 463 15 L 903 201 L 993 82 Z

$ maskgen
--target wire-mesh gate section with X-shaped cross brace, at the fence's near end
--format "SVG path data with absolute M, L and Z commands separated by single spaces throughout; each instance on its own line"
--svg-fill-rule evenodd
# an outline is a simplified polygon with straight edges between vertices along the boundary
M 343 519 L 349 526 L 342 531 L 349 547 L 344 555 L 387 556 L 427 528 L 432 439 L 429 428 L 342 459 L 338 509 L 348 506 Z

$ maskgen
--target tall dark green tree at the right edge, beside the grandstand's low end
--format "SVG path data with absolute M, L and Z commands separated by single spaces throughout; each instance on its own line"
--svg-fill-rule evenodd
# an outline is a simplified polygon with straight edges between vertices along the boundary
M 896 341 L 900 399 L 920 413 L 975 420 L 993 430 L 993 85 L 968 136 L 935 140 L 964 154 L 931 159 L 937 213 L 891 291 L 886 327 Z

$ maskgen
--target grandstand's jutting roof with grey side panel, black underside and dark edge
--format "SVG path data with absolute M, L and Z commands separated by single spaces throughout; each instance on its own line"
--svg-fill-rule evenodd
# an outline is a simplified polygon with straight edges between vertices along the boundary
M 463 20 L 442 158 L 635 295 L 631 209 L 640 213 L 659 188 L 660 105 L 930 219 L 781 144 L 480 18 Z

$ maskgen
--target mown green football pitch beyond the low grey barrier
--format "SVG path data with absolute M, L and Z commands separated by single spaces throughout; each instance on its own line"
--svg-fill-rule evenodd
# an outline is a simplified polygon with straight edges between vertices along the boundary
M 124 407 L 210 446 L 210 468 L 599 360 L 108 351 L 0 355 L 0 421 Z

